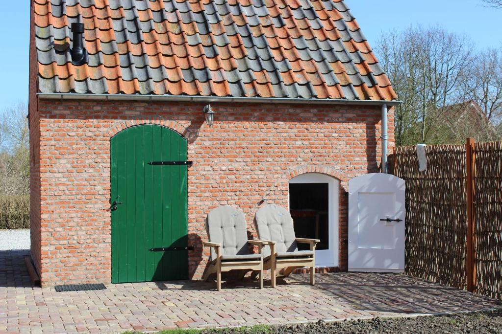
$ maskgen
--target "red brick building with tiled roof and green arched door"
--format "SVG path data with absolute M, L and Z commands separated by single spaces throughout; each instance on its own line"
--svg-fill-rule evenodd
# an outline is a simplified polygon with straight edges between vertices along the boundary
M 239 207 L 253 237 L 264 200 L 294 201 L 319 265 L 346 269 L 347 181 L 378 171 L 395 100 L 343 1 L 32 2 L 42 284 L 200 278 L 207 213 Z

